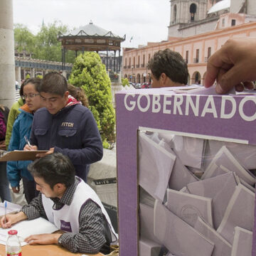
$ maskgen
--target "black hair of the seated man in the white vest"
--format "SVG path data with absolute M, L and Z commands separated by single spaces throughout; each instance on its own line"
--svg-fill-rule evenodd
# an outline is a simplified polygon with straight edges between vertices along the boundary
M 75 182 L 75 167 L 68 156 L 60 153 L 48 154 L 28 165 L 33 177 L 43 178 L 53 189 L 55 184 L 63 183 L 67 188 Z

